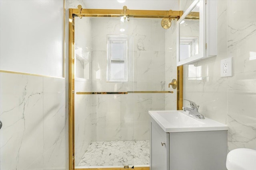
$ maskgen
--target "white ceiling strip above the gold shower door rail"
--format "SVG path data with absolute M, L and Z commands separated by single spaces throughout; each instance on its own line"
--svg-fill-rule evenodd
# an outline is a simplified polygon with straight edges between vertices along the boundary
M 179 0 L 83 0 L 88 9 L 179 10 Z M 119 0 L 120 1 L 120 0 Z

